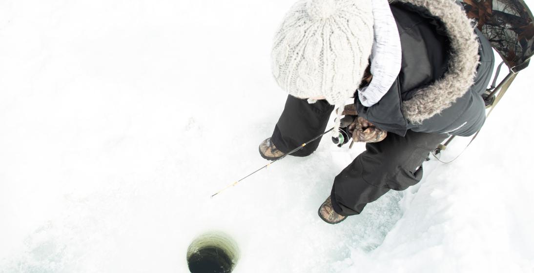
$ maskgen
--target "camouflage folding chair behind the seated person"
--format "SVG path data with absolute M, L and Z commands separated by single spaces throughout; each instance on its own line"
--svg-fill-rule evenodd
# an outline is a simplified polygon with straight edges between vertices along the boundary
M 534 17 L 523 0 L 461 0 L 467 17 L 475 20 L 476 27 L 488 39 L 502 59 L 491 86 L 483 99 L 489 108 L 486 117 L 499 103 L 517 74 L 529 66 L 534 55 Z M 508 75 L 496 86 L 502 64 L 508 67 Z M 480 132 L 480 131 L 479 131 Z M 475 134 L 471 142 L 476 138 Z M 434 151 L 437 156 L 454 139 L 451 136 Z

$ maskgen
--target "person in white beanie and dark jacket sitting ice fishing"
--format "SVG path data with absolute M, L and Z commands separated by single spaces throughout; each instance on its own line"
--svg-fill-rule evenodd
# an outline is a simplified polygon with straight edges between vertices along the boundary
M 354 140 L 368 142 L 319 208 L 328 223 L 418 183 L 430 151 L 449 135 L 474 134 L 485 121 L 481 95 L 493 52 L 460 4 L 389 2 L 299 1 L 274 41 L 272 72 L 288 97 L 272 137 L 260 144 L 262 157 L 279 158 L 323 133 L 336 107 L 334 134 L 342 115 L 357 115 Z M 308 156 L 318 145 L 292 155 Z

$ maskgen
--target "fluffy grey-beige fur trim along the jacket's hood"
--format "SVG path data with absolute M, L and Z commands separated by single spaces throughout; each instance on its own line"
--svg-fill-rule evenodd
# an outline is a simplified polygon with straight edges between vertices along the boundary
M 425 7 L 441 19 L 451 42 L 449 69 L 430 86 L 415 91 L 404 101 L 402 112 L 410 122 L 420 124 L 449 108 L 474 84 L 478 56 L 478 40 L 465 11 L 454 0 L 398 0 Z

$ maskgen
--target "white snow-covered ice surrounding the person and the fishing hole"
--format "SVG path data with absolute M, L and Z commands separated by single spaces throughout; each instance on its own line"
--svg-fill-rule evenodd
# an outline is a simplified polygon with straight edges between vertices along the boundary
M 235 273 L 533 272 L 531 69 L 458 160 L 342 224 L 317 208 L 363 144 L 324 139 L 209 198 L 266 164 L 291 4 L 1 1 L 0 272 L 187 272 L 210 230 L 239 244 Z

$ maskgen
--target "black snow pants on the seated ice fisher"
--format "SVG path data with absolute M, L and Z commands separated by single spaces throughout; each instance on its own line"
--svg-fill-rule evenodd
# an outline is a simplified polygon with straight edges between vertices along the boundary
M 282 152 L 299 147 L 326 130 L 333 110 L 334 107 L 325 100 L 309 104 L 307 100 L 288 96 L 274 128 L 272 142 Z M 367 203 L 390 189 L 405 190 L 418 183 L 423 175 L 423 161 L 446 138 L 445 134 L 409 130 L 404 137 L 389 133 L 381 142 L 367 143 L 366 151 L 334 179 L 331 192 L 334 210 L 344 216 L 359 214 Z M 319 146 L 319 141 L 292 155 L 310 155 Z

